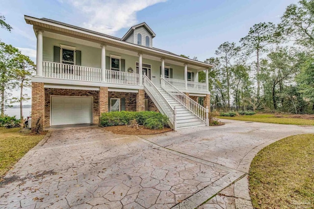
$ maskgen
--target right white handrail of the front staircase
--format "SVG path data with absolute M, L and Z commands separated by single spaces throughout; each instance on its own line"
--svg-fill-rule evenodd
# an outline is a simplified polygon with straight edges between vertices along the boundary
M 185 95 L 185 93 L 178 90 L 176 87 L 171 85 L 168 81 L 164 78 L 160 77 L 161 88 L 177 99 L 184 107 L 186 107 L 189 111 L 191 111 L 194 115 L 201 118 L 206 125 L 209 125 L 209 109 L 204 108 L 193 99 Z

